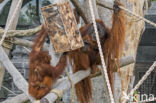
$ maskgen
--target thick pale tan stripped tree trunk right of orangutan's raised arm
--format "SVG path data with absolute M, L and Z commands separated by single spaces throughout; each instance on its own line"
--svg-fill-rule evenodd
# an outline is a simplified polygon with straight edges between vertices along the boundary
M 125 1 L 125 0 L 124 0 Z M 133 11 L 135 14 L 143 16 L 143 6 L 144 1 L 142 0 L 127 0 L 126 7 Z M 133 55 L 136 58 L 138 44 L 140 42 L 140 38 L 142 36 L 142 32 L 144 31 L 144 21 L 138 20 L 138 18 L 134 16 L 127 15 L 127 24 L 126 24 L 126 39 L 125 39 L 125 49 L 124 56 Z M 133 76 L 134 65 L 131 64 L 129 66 L 121 68 L 121 87 L 122 93 L 127 93 L 128 87 L 130 84 L 130 79 Z M 120 101 L 122 101 L 122 96 L 120 97 Z

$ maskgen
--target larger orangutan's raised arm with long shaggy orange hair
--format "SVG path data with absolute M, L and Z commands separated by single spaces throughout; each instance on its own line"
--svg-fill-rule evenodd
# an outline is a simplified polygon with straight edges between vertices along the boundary
M 119 71 L 119 58 L 123 53 L 125 41 L 125 15 L 117 5 L 122 5 L 120 2 L 115 2 L 114 14 L 112 17 L 113 25 L 111 28 L 111 36 L 103 45 L 105 60 L 107 62 L 108 75 L 113 87 L 114 77 L 113 72 Z M 123 6 L 123 5 L 122 5 Z M 112 88 L 113 90 L 113 88 Z

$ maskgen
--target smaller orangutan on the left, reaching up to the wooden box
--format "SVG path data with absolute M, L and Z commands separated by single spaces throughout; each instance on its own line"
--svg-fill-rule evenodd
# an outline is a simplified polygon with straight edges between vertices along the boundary
M 45 26 L 38 33 L 29 57 L 29 93 L 35 99 L 41 99 L 52 88 L 53 82 L 63 73 L 66 66 L 66 56 L 62 55 L 56 67 L 50 65 L 48 52 L 41 51 L 46 36 Z

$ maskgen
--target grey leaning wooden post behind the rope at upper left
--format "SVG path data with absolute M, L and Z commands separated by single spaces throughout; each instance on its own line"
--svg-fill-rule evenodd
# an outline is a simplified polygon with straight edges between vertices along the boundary
M 11 7 L 10 7 L 10 12 L 9 12 L 9 16 L 7 18 L 7 23 L 6 23 L 6 26 L 8 25 L 8 22 L 10 20 L 10 18 L 12 17 L 12 14 L 16 8 L 16 4 L 19 0 L 12 0 L 12 4 L 11 4 Z M 23 0 L 22 0 L 23 2 Z M 15 30 L 16 29 L 16 26 L 17 26 L 17 22 L 18 22 L 18 17 L 19 17 L 19 13 L 20 13 L 20 10 L 21 10 L 21 6 L 22 6 L 22 2 L 17 10 L 17 15 L 15 17 L 15 19 L 13 20 L 14 22 L 12 23 L 12 25 L 9 27 L 9 30 Z M 5 49 L 5 52 L 7 53 L 7 55 L 9 54 L 10 50 L 9 49 Z M 0 63 L 0 88 L 2 86 L 2 82 L 3 82 L 3 77 L 4 77 L 4 74 L 5 74 L 5 68 L 4 66 L 2 65 L 2 63 Z

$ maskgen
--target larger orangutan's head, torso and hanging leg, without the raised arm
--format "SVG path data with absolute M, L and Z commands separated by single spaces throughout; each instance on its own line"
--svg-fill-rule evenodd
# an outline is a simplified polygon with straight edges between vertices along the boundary
M 101 43 L 109 37 L 109 29 L 104 25 L 101 20 L 96 20 L 99 30 Z M 87 70 L 89 67 L 92 72 L 97 70 L 97 64 L 100 64 L 98 54 L 98 47 L 94 35 L 94 28 L 92 24 L 85 25 L 80 28 L 85 46 L 81 49 L 71 51 L 69 56 L 74 61 L 73 72 L 79 70 Z M 92 98 L 92 85 L 90 76 L 80 81 L 75 85 L 78 100 L 81 103 L 89 103 Z

